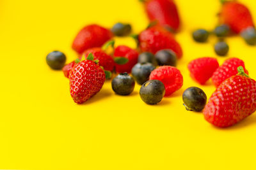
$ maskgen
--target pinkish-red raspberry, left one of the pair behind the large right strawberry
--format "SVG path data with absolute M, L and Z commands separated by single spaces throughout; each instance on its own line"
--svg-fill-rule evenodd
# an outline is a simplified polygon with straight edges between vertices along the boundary
M 204 85 L 211 78 L 218 67 L 218 60 L 212 57 L 195 59 L 188 64 L 190 76 L 201 85 Z

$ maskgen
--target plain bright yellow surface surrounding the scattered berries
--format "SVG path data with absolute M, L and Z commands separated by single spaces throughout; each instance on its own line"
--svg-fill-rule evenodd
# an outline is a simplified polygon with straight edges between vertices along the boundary
M 243 0 L 256 19 L 255 0 Z M 136 85 L 131 96 L 116 96 L 110 81 L 90 101 L 72 101 L 68 80 L 52 71 L 45 56 L 52 50 L 76 58 L 70 45 L 86 24 L 111 27 L 129 22 L 134 32 L 147 26 L 138 0 L 0 1 L 0 169 L 255 169 L 256 114 L 228 129 L 208 124 L 201 113 L 186 111 L 182 92 L 198 86 L 187 64 L 196 57 L 216 57 L 211 37 L 198 44 L 191 31 L 212 29 L 218 0 L 177 0 L 182 30 L 177 34 L 184 57 L 178 68 L 184 86 L 157 106 L 141 101 Z M 256 20 L 255 20 L 256 22 Z M 245 61 L 256 78 L 256 46 L 227 39 L 228 57 Z M 117 44 L 134 46 L 117 39 Z M 218 57 L 220 63 L 226 58 Z

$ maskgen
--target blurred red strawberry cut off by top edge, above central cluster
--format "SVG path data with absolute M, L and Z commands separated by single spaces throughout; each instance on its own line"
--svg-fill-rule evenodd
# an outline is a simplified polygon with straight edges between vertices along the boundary
M 170 26 L 172 29 L 179 29 L 180 19 L 177 6 L 170 0 L 149 0 L 145 2 L 150 21 L 157 21 L 160 25 Z

